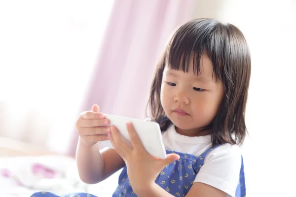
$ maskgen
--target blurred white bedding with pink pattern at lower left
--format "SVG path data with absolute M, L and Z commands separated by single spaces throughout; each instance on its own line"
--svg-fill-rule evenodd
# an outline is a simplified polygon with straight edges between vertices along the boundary
M 73 158 L 65 156 L 0 158 L 0 197 L 30 197 L 36 191 L 58 195 L 87 192 L 98 197 L 111 197 L 119 171 L 107 180 L 88 185 L 78 176 Z

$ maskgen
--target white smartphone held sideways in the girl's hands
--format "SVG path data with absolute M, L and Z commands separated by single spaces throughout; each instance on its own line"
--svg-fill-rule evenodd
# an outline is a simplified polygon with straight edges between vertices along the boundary
M 111 114 L 105 114 L 105 118 L 110 120 L 110 126 L 114 125 L 121 134 L 123 140 L 128 143 L 130 143 L 130 138 L 126 129 L 126 123 L 132 123 L 147 152 L 160 159 L 166 158 L 166 151 L 158 123 Z M 113 148 L 110 140 L 101 141 L 100 145 Z

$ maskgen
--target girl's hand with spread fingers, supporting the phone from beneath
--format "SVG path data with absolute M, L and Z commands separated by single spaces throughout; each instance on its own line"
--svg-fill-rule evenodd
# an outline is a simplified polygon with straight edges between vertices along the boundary
M 127 175 L 133 191 L 144 192 L 153 186 L 160 171 L 178 159 L 177 154 L 169 154 L 165 160 L 151 156 L 144 148 L 138 134 L 131 123 L 126 124 L 132 146 L 120 136 L 116 127 L 111 126 L 110 141 L 116 152 L 123 158 L 127 165 Z

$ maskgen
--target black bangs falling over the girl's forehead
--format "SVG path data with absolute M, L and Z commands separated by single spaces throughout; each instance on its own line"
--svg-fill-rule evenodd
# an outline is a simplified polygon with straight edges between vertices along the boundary
M 200 74 L 200 59 L 206 55 L 213 64 L 213 76 L 221 79 L 222 52 L 221 26 L 215 20 L 191 21 L 182 26 L 171 38 L 166 65 L 170 69 L 188 72 L 193 61 L 194 74 Z

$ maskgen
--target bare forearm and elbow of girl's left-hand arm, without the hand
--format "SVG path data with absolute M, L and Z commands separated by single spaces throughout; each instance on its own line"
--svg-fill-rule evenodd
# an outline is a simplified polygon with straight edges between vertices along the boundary
M 114 149 L 99 151 L 98 145 L 86 146 L 78 141 L 76 163 L 80 179 L 88 184 L 99 183 L 125 164 Z

